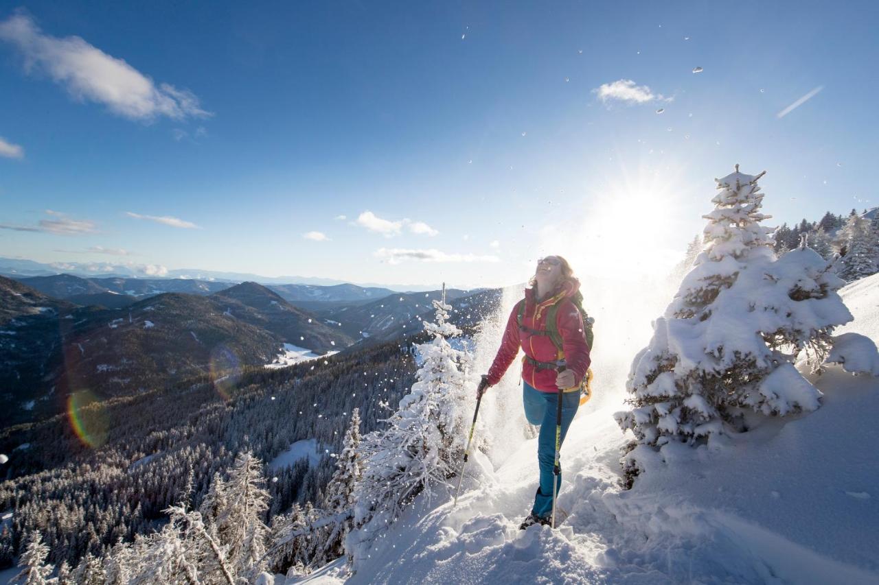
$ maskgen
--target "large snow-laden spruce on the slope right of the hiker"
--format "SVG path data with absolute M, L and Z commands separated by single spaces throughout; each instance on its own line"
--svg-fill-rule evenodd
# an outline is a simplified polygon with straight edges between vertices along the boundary
M 743 430 L 742 408 L 787 415 L 820 405 L 794 363 L 817 369 L 828 358 L 832 329 L 852 319 L 836 293 L 844 283 L 805 238 L 776 261 L 759 224 L 762 176 L 736 165 L 716 179 L 705 248 L 632 364 L 632 408 L 615 415 L 638 443 L 623 460 L 629 480 L 657 447 Z

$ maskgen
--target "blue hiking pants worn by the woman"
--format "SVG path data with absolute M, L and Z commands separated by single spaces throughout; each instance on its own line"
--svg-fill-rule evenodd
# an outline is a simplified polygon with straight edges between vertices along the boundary
M 522 397 L 525 402 L 525 417 L 528 423 L 540 425 L 541 434 L 537 439 L 537 462 L 541 469 L 541 483 L 534 495 L 534 508 L 531 513 L 546 517 L 552 513 L 553 466 L 556 463 L 556 408 L 558 394 L 548 394 L 537 390 L 527 382 L 522 382 Z M 570 422 L 580 408 L 580 393 L 562 393 L 562 441 L 568 434 Z M 556 488 L 562 486 L 562 474 L 557 476 Z

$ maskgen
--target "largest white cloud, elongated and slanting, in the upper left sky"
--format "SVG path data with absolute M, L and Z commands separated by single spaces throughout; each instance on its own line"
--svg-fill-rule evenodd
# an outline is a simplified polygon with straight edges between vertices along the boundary
M 40 30 L 33 18 L 18 12 L 0 22 L 0 40 L 25 59 L 25 71 L 46 73 L 78 100 L 106 105 L 129 119 L 149 121 L 204 118 L 199 98 L 169 83 L 153 82 L 126 61 L 106 54 L 80 37 L 58 38 Z

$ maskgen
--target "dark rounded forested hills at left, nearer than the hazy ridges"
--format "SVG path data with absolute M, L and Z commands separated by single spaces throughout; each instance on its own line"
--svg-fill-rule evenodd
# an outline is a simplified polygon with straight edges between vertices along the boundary
M 69 290 L 79 290 L 80 283 L 71 283 Z M 108 309 L 77 307 L 0 277 L 0 305 L 5 423 L 56 414 L 69 393 L 82 389 L 124 396 L 206 372 L 221 378 L 244 365 L 265 365 L 283 343 L 324 353 L 353 342 L 338 326 L 256 283 L 222 295 L 161 293 Z

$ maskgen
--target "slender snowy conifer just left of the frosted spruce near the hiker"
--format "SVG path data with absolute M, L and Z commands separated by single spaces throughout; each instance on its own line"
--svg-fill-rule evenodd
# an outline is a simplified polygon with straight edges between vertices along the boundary
M 351 423 L 345 431 L 345 447 L 336 459 L 336 473 L 327 486 L 324 514 L 328 523 L 321 529 L 321 542 L 316 547 L 315 566 L 345 554 L 345 537 L 353 528 L 354 488 L 363 475 L 360 459 L 360 408 L 351 413 Z

